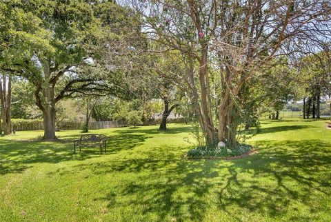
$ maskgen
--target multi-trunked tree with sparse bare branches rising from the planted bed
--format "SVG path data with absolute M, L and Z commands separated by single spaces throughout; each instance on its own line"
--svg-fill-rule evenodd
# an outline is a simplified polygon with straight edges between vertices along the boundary
M 330 2 L 315 1 L 194 1 L 132 0 L 143 18 L 143 32 L 176 50 L 185 72 L 173 78 L 186 88 L 207 143 L 226 141 L 237 147 L 245 83 L 279 54 L 296 50 L 297 41 L 329 37 Z M 157 50 L 151 50 L 154 52 Z M 210 85 L 219 75 L 217 119 L 213 118 Z M 171 79 L 171 78 L 170 78 Z

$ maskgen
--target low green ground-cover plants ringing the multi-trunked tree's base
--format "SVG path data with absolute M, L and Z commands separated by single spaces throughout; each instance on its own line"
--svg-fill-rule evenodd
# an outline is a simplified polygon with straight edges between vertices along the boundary
M 188 158 L 190 159 L 201 159 L 201 158 L 209 158 L 209 157 L 235 157 L 245 154 L 246 152 L 252 149 L 251 145 L 241 143 L 238 145 L 238 148 L 235 150 L 231 150 L 226 148 L 219 148 L 216 146 L 199 146 L 188 151 Z

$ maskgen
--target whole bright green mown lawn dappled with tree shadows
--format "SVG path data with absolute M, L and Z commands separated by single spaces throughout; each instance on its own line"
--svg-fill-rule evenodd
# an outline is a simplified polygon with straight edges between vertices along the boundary
M 0 138 L 0 221 L 331 221 L 325 124 L 263 121 L 259 153 L 235 161 L 183 159 L 187 125 L 93 130 L 103 155 L 17 132 Z

